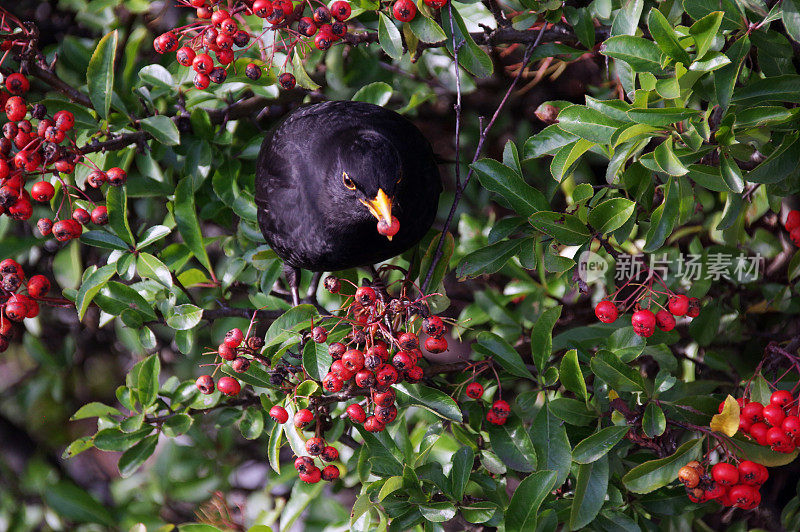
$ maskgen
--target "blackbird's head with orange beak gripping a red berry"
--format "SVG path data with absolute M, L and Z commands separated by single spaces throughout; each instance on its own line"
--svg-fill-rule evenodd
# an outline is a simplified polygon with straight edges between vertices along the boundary
M 352 131 L 340 138 L 338 194 L 350 211 L 377 221 L 377 230 L 389 240 L 397 233 L 399 222 L 392 215 L 395 196 L 402 181 L 400 154 L 385 136 L 372 131 Z

